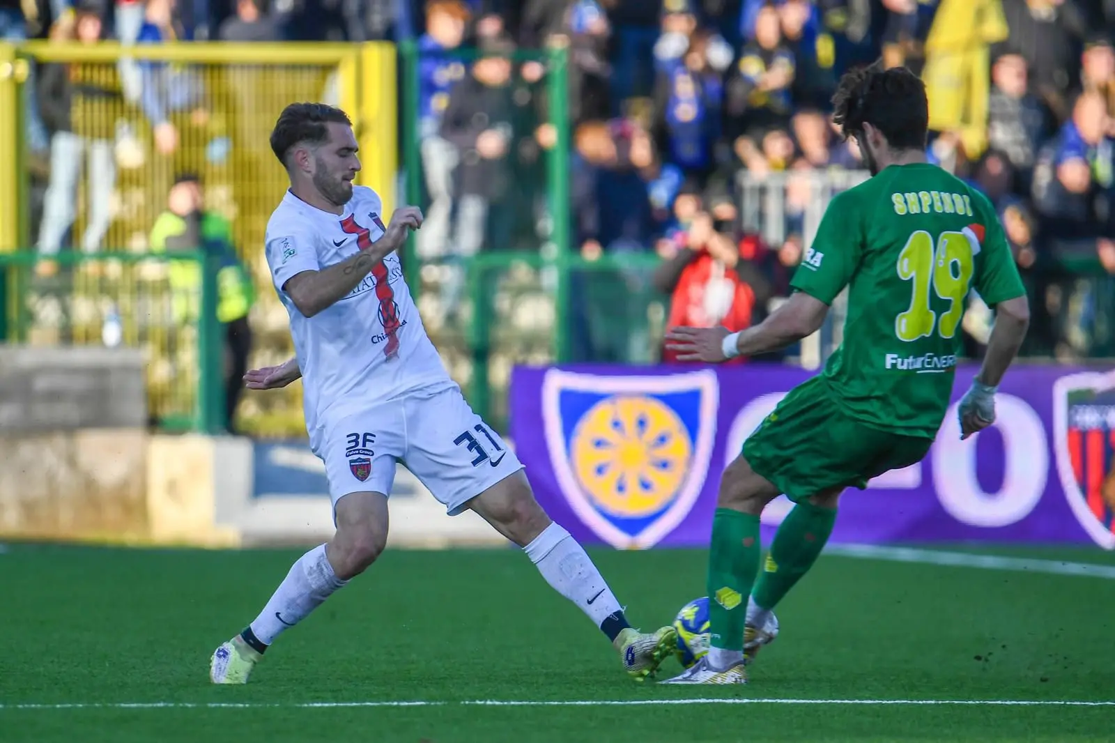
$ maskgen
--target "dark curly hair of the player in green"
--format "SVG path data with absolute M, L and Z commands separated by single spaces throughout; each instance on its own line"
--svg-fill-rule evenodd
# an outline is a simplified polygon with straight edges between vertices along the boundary
M 905 67 L 885 68 L 882 60 L 844 74 L 833 94 L 833 123 L 844 138 L 874 126 L 892 149 L 924 149 L 929 132 L 925 84 Z

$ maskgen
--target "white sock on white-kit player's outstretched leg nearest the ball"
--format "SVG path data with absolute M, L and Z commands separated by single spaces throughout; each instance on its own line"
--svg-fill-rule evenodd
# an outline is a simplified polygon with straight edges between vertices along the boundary
M 556 523 L 542 530 L 523 551 L 546 582 L 589 615 L 598 627 L 609 615 L 623 610 L 584 548 Z

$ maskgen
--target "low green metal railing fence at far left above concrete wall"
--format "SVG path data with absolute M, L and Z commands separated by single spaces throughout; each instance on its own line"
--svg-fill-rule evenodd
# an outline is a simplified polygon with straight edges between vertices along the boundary
M 27 346 L 140 349 L 151 423 L 167 430 L 217 432 L 224 425 L 223 340 L 216 320 L 216 272 L 206 257 L 173 259 L 67 252 L 50 277 L 30 252 L 0 253 L 4 337 Z M 176 267 L 197 267 L 192 289 L 172 286 Z

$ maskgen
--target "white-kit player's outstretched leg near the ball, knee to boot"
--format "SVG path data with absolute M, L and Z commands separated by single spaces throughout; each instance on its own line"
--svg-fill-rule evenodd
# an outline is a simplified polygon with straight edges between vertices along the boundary
M 644 634 L 628 624 L 623 608 L 584 548 L 550 520 L 522 471 L 485 490 L 468 502 L 468 508 L 522 547 L 546 582 L 600 627 L 632 677 L 642 681 L 650 676 L 673 653 L 677 635 L 672 627 Z

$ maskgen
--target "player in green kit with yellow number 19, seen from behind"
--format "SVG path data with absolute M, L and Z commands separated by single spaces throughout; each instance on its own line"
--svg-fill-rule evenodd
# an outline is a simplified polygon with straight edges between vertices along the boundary
M 741 332 L 677 328 L 667 337 L 681 360 L 763 354 L 816 331 L 849 287 L 841 348 L 724 472 L 708 561 L 711 647 L 665 683 L 746 683 L 745 664 L 777 635 L 772 610 L 821 553 L 844 489 L 925 456 L 949 407 L 970 289 L 996 308 L 996 321 L 960 403 L 962 437 L 995 421 L 996 388 L 1026 335 L 1029 307 L 995 209 L 925 162 L 922 81 L 876 62 L 846 74 L 833 104 L 872 177 L 833 199 L 789 300 Z M 759 515 L 779 493 L 796 505 L 759 575 Z

